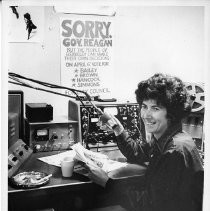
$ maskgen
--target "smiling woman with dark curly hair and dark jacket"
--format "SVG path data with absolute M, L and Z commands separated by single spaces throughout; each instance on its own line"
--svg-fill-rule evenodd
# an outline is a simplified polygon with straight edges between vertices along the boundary
M 191 99 L 183 82 L 177 77 L 155 74 L 140 82 L 135 94 L 142 132 L 138 141 L 129 136 L 114 116 L 109 115 L 107 122 L 101 118 L 103 129 L 107 129 L 107 124 L 109 128 L 114 125 L 117 145 L 129 162 L 149 163 L 144 190 L 136 187 L 133 191 L 138 194 L 128 194 L 132 202 L 129 209 L 202 211 L 202 162 L 193 139 L 182 131 L 181 121 L 191 110 Z M 113 180 L 101 169 L 87 168 L 94 182 L 103 187 L 112 185 Z

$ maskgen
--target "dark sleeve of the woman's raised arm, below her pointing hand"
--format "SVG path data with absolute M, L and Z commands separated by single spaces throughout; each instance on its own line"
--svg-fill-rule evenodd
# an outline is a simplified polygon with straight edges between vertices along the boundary
M 117 145 L 128 162 L 143 164 L 148 161 L 149 144 L 141 139 L 133 140 L 126 131 L 117 136 Z

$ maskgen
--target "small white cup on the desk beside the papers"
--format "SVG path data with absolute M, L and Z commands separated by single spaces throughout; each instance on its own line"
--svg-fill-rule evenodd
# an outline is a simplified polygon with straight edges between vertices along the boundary
M 63 177 L 71 177 L 74 171 L 74 158 L 64 157 L 61 160 L 61 172 Z

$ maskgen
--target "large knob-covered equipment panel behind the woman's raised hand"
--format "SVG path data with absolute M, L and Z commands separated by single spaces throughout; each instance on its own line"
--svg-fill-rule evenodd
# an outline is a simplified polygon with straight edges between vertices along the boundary
M 139 105 L 137 103 L 94 102 L 103 112 L 114 115 L 125 130 L 135 138 L 139 131 Z M 116 146 L 116 137 L 112 132 L 103 131 L 97 126 L 99 114 L 90 102 L 84 105 L 78 101 L 69 101 L 69 119 L 78 121 L 78 138 L 87 148 Z

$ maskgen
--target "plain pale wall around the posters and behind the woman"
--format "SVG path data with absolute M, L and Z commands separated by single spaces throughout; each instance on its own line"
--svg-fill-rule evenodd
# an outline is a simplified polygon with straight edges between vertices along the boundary
M 44 7 L 43 43 L 9 43 L 8 69 L 37 80 L 60 83 L 59 17 Z M 204 8 L 193 6 L 119 6 L 115 16 L 115 84 L 113 97 L 135 101 L 137 83 L 155 72 L 204 82 Z M 68 99 L 22 89 L 25 103 L 47 102 L 54 116 L 67 115 Z

